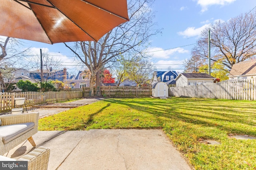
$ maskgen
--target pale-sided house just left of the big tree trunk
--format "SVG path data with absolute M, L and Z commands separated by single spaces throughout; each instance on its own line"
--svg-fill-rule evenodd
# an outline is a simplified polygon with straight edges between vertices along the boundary
M 83 87 L 89 87 L 90 86 L 90 80 L 84 79 L 84 72 L 79 71 L 77 76 L 70 76 L 71 79 L 65 79 L 63 80 L 64 86 L 70 87 L 70 88 L 83 88 Z

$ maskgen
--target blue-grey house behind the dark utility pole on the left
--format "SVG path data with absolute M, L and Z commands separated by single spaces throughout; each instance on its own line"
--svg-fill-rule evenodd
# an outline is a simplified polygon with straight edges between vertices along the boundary
M 68 72 L 66 68 L 63 70 L 53 70 L 50 68 L 49 70 L 43 70 L 44 80 L 63 80 L 68 79 Z M 30 78 L 41 80 L 41 70 L 33 70 L 30 71 Z

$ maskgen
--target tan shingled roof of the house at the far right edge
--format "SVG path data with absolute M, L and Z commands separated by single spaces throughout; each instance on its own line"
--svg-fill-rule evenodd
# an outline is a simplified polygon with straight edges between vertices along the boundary
M 230 70 L 229 77 L 256 74 L 256 60 L 243 61 L 234 64 Z

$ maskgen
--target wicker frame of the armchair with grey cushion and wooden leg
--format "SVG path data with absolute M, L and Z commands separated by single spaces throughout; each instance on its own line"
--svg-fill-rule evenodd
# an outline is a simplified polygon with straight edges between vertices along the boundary
M 27 132 L 23 132 L 22 135 L 16 135 L 15 139 L 12 139 L 11 141 L 8 141 L 7 143 L 4 142 L 4 140 L 1 137 L 0 134 L 0 155 L 5 154 L 9 150 L 13 149 L 26 139 L 31 143 L 33 147 L 36 146 L 32 135 L 36 134 L 38 131 L 38 117 L 39 113 L 25 113 L 25 114 L 16 114 L 16 115 L 1 115 L 0 120 L 2 121 L 2 126 L 4 125 L 14 125 L 19 123 L 29 123 L 33 122 L 34 127 L 32 129 L 28 130 Z M 0 126 L 1 128 L 1 126 Z

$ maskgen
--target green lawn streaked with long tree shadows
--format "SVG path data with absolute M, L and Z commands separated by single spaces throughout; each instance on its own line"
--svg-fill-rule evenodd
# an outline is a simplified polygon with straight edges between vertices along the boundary
M 195 169 L 256 169 L 256 102 L 195 98 L 105 99 L 39 120 L 39 130 L 163 129 Z M 206 145 L 211 139 L 220 145 Z

